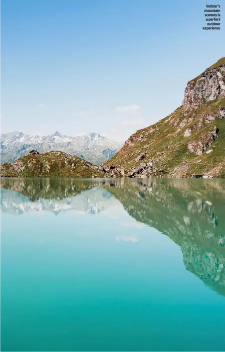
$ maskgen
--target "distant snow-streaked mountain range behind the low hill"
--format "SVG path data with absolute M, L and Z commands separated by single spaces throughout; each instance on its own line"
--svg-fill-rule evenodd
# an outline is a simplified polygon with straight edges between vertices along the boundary
M 34 149 L 39 153 L 59 150 L 100 165 L 122 147 L 122 143 L 108 140 L 94 132 L 68 137 L 56 131 L 54 134 L 42 137 L 15 131 L 1 134 L 0 140 L 1 164 L 19 159 Z

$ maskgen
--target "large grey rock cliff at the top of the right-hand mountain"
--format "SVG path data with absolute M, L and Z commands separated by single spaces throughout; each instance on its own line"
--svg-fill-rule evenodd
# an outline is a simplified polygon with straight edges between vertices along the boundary
M 183 110 L 196 110 L 206 102 L 225 97 L 225 65 L 203 72 L 188 82 L 183 100 Z

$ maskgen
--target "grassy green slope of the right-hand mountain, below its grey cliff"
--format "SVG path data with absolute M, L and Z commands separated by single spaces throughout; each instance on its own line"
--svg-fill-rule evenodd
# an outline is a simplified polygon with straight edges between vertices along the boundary
M 158 175 L 160 169 L 164 170 L 165 176 L 169 176 L 171 170 L 179 166 L 181 162 L 187 162 L 188 169 L 183 172 L 186 176 L 193 173 L 207 173 L 220 165 L 222 168 L 218 174 L 221 177 L 225 177 L 225 119 L 216 118 L 214 122 L 209 124 L 203 122 L 203 126 L 199 131 L 193 130 L 190 137 L 184 137 L 184 132 L 187 128 L 192 128 L 205 114 L 216 114 L 221 107 L 225 107 L 225 98 L 214 100 L 196 111 L 190 112 L 187 116 L 183 114 L 182 107 L 179 107 L 156 124 L 138 130 L 130 137 L 130 141 L 134 141 L 135 144 L 130 147 L 125 145 L 114 157 L 107 160 L 104 166 L 115 165 L 132 170 L 140 164 L 140 161 L 135 161 L 136 157 L 140 153 L 146 153 L 147 156 L 144 162 L 153 159 L 154 167 L 157 169 L 154 176 Z M 180 129 L 180 123 L 189 118 L 193 120 Z M 206 154 L 206 150 L 200 156 L 191 153 L 188 149 L 189 142 L 204 138 L 214 126 L 219 128 L 218 138 L 207 149 L 213 148 L 214 151 Z M 157 155 L 157 153 L 162 152 L 164 153 L 163 155 Z M 197 160 L 202 161 L 201 163 L 196 163 Z

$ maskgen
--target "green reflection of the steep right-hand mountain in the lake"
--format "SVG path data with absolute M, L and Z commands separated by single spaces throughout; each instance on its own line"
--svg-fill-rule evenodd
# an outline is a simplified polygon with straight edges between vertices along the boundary
M 186 269 L 225 295 L 225 180 L 132 181 L 105 188 L 130 216 L 177 243 Z

